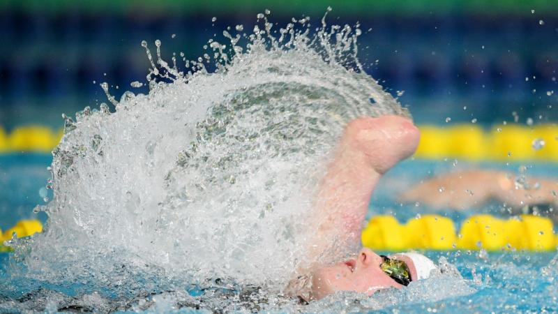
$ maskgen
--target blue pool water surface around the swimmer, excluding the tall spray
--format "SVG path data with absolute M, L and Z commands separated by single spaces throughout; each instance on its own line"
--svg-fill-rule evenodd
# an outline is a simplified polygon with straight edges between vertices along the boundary
M 0 156 L 0 227 L 6 230 L 17 220 L 38 218 L 45 222 L 44 213 L 33 214 L 36 204 L 44 203 L 42 190 L 49 177 L 46 167 L 52 158 L 48 155 Z M 420 178 L 451 170 L 454 160 L 407 160 L 391 170 L 380 181 L 372 197 L 368 216 L 394 214 L 401 221 L 429 209 L 414 204 L 400 206 L 397 193 Z M 520 165 L 484 164 L 516 171 Z M 460 163 L 461 169 L 472 167 Z M 556 173 L 555 165 L 534 164 L 530 175 Z M 47 195 L 48 196 L 48 195 Z M 499 215 L 495 207 L 480 211 Z M 451 217 L 456 225 L 477 213 L 476 210 L 438 214 Z M 12 253 L 0 253 L 0 312 L 20 311 L 146 311 L 197 313 L 200 311 L 226 311 L 223 304 L 196 303 L 192 287 L 183 291 L 165 291 L 154 279 L 137 278 L 137 286 L 146 287 L 140 295 L 126 292 L 115 294 L 104 290 L 96 278 L 80 283 L 49 283 L 25 276 L 13 275 L 10 264 L 17 263 Z M 236 311 L 273 312 L 368 312 L 380 313 L 555 313 L 558 311 L 558 255 L 529 252 L 428 251 L 426 255 L 446 271 L 426 281 L 416 282 L 402 290 L 386 290 L 371 298 L 352 293 L 338 293 L 321 301 L 301 306 L 293 302 L 228 308 Z M 458 273 L 453 274 L 455 269 Z M 118 278 L 115 278 L 117 280 Z M 126 291 L 126 290 L 123 290 Z M 188 293 L 189 292 L 189 293 Z M 192 294 L 192 295 L 190 295 Z M 194 297 L 193 297 L 194 296 Z M 199 298 L 199 297 L 197 297 Z M 271 302 L 269 302 L 271 303 Z M 253 305 L 253 304 L 252 304 Z M 230 305 L 229 305 L 230 306 Z

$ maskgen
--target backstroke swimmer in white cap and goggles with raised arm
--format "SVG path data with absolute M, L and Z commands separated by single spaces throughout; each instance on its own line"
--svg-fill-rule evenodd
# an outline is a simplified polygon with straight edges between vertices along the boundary
M 312 241 L 311 255 L 319 260 L 331 239 L 360 246 L 361 228 L 377 182 L 393 165 L 414 153 L 418 139 L 418 129 L 404 117 L 362 117 L 347 125 L 319 189 L 316 208 L 325 218 Z M 363 248 L 354 259 L 333 265 L 316 262 L 299 270 L 287 293 L 303 301 L 322 299 L 340 290 L 371 295 L 427 278 L 432 269 L 435 264 L 418 253 L 386 257 Z

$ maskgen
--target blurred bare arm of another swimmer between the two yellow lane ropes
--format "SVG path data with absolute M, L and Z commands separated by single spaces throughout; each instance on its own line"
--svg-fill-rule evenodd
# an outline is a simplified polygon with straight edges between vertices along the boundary
M 515 174 L 495 170 L 468 170 L 443 174 L 421 182 L 400 197 L 402 202 L 420 202 L 433 209 L 471 209 L 489 200 L 513 209 L 534 204 L 558 204 L 558 181 L 530 177 L 528 188 L 515 186 Z M 443 192 L 440 193 L 440 188 Z

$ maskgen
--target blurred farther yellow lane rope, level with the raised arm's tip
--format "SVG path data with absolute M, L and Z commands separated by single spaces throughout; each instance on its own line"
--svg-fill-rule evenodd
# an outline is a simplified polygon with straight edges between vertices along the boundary
M 558 125 L 508 124 L 486 130 L 476 124 L 419 126 L 421 142 L 415 158 L 462 160 L 545 160 L 558 162 Z M 60 142 L 62 130 L 21 126 L 11 133 L 0 127 L 0 154 L 48 153 Z

